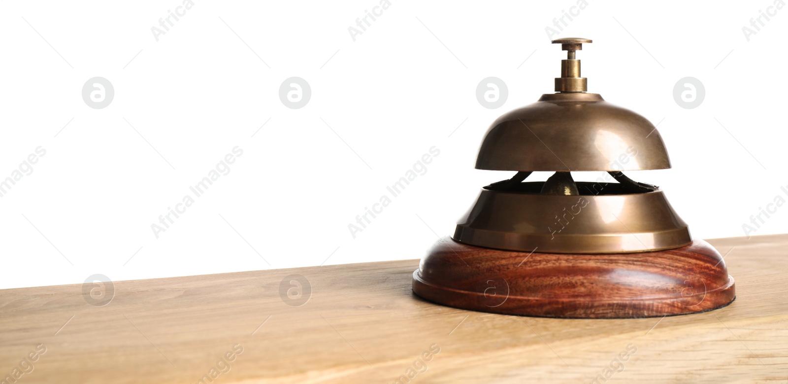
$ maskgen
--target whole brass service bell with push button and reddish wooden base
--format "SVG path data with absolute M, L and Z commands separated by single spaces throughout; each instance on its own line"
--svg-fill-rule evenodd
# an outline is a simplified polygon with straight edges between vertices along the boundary
M 556 93 L 492 123 L 479 170 L 516 172 L 481 189 L 452 238 L 413 274 L 418 296 L 475 311 L 561 318 L 637 318 L 730 304 L 734 279 L 719 252 L 693 240 L 662 190 L 623 171 L 671 167 L 645 117 L 585 93 L 567 50 Z M 534 171 L 555 172 L 523 182 Z M 594 182 L 571 172 L 605 171 Z

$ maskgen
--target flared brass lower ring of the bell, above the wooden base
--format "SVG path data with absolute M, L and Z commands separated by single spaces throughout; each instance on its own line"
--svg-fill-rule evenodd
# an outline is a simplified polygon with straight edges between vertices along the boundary
M 546 253 L 627 253 L 689 244 L 687 225 L 662 191 L 629 193 L 618 183 L 578 182 L 580 195 L 544 195 L 544 183 L 481 190 L 454 240 Z

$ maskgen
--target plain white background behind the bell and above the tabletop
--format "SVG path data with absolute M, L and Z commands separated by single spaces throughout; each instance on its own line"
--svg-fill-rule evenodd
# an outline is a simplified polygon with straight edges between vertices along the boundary
M 151 27 L 180 4 L 0 2 L 0 177 L 46 149 L 0 198 L 0 288 L 418 259 L 513 174 L 474 170 L 478 144 L 552 93 L 566 53 L 545 27 L 577 2 L 394 1 L 354 42 L 348 27 L 378 0 L 195 0 L 157 42 Z M 594 40 L 578 52 L 590 92 L 661 121 L 673 168 L 628 175 L 660 185 L 696 238 L 742 236 L 788 199 L 788 9 L 742 32 L 772 4 L 589 0 L 559 33 Z M 81 96 L 94 76 L 115 90 L 100 110 Z M 291 76 L 310 84 L 302 109 L 279 99 Z M 497 110 L 475 96 L 488 76 L 508 86 Z M 691 110 L 672 96 L 685 76 L 706 91 Z M 154 237 L 236 146 L 231 172 Z M 426 174 L 351 237 L 433 146 Z M 780 207 L 754 234 L 786 229 Z

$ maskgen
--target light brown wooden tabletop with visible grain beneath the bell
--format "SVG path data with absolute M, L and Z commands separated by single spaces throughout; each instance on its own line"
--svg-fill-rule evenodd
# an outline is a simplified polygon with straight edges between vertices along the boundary
M 411 293 L 418 260 L 116 281 L 102 307 L 5 289 L 0 382 L 788 382 L 788 235 L 709 242 L 737 299 L 663 319 L 446 308 Z

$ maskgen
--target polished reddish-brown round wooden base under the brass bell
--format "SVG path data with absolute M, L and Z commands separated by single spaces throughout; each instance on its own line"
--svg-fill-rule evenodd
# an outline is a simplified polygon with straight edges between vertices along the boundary
M 574 319 L 686 315 L 736 296 L 723 258 L 703 240 L 583 255 L 501 251 L 444 237 L 414 271 L 413 292 L 455 308 Z

